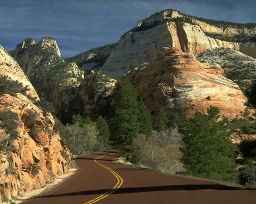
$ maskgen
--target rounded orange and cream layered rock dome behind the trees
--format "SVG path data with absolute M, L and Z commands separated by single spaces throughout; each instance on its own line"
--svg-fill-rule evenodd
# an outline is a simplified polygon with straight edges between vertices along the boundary
M 218 64 L 200 63 L 177 48 L 164 48 L 157 57 L 125 75 L 137 89 L 153 118 L 160 107 L 168 117 L 191 115 L 209 106 L 232 119 L 242 114 L 247 99 Z

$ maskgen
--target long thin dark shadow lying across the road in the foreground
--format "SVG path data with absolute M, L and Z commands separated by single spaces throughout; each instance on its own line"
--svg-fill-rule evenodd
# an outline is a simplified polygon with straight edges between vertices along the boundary
M 62 193 L 56 195 L 45 195 L 38 198 L 51 198 L 51 197 L 65 197 L 65 196 L 76 196 L 76 195 L 102 195 L 107 193 L 111 189 L 99 189 L 91 191 L 78 191 L 71 193 Z M 124 193 L 140 193 L 140 192 L 154 192 L 154 191 L 197 191 L 197 190 L 241 190 L 236 187 L 223 186 L 220 184 L 187 184 L 187 185 L 168 185 L 168 186 L 146 186 L 146 187 L 135 187 L 135 188 L 121 188 L 118 189 L 115 194 Z

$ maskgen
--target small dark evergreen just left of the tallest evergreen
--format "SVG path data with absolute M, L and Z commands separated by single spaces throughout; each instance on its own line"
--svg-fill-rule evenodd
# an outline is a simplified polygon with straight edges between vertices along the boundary
M 110 137 L 110 131 L 108 129 L 108 123 L 106 123 L 106 120 L 102 118 L 102 116 L 98 116 L 96 120 L 96 127 L 99 132 L 99 140 L 100 143 L 102 143 L 103 149 L 109 149 L 109 137 Z

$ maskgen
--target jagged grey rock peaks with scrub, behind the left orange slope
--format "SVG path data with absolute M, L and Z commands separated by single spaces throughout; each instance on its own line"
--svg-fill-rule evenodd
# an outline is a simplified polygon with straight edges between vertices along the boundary
M 52 100 L 53 88 L 63 80 L 82 81 L 84 72 L 75 63 L 66 63 L 61 58 L 57 42 L 42 38 L 38 43 L 26 39 L 10 52 L 30 79 L 40 98 Z

